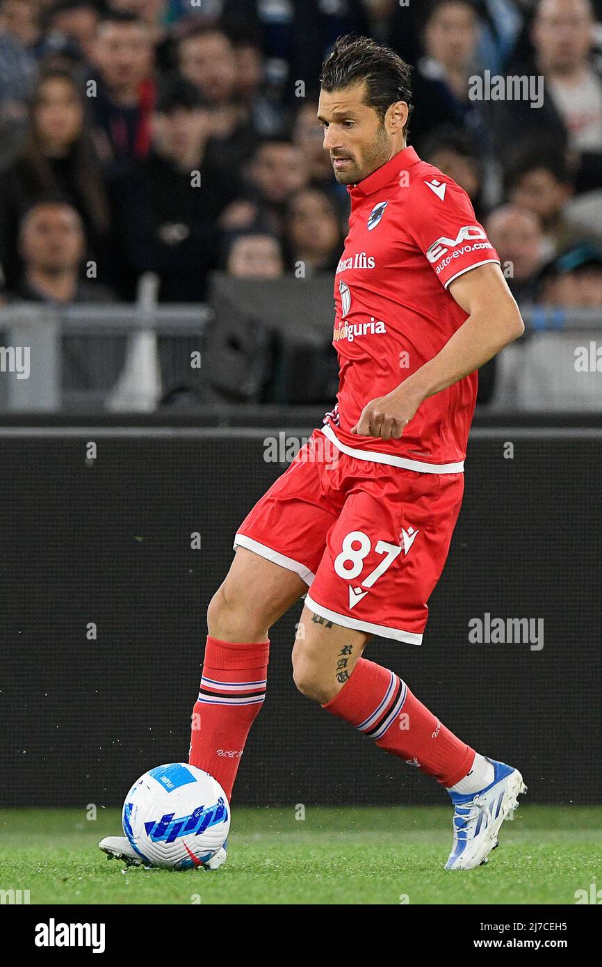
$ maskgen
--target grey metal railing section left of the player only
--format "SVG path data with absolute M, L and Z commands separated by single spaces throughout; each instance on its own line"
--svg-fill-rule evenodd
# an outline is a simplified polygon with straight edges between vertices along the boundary
M 186 380 L 190 353 L 200 353 L 200 337 L 212 315 L 210 308 L 201 305 L 56 308 L 23 303 L 2 308 L 2 407 L 14 411 L 58 410 L 65 405 L 152 410 L 162 393 Z M 64 353 L 70 339 L 83 353 L 97 356 L 97 369 L 102 367 L 101 356 L 107 347 L 120 356 L 121 342 L 123 366 L 115 373 L 114 385 L 104 389 L 64 387 Z

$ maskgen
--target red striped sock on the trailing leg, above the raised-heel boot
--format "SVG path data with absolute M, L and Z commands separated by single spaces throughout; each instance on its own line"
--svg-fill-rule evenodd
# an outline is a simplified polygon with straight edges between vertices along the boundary
M 323 708 L 447 788 L 473 765 L 474 749 L 445 728 L 405 682 L 374 661 L 359 659 L 349 681 Z

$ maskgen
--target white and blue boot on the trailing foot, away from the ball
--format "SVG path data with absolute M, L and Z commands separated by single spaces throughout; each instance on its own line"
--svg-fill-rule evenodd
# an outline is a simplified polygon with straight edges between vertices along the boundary
M 494 767 L 493 782 L 465 796 L 449 793 L 455 810 L 453 847 L 445 869 L 473 869 L 487 863 L 487 857 L 498 845 L 503 820 L 518 807 L 518 797 L 527 792 L 518 769 L 495 759 L 487 761 Z

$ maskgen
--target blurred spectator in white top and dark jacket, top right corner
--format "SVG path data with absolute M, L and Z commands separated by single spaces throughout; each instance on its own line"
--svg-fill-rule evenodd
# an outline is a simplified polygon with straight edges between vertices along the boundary
M 498 135 L 505 161 L 511 146 L 549 145 L 568 153 L 578 192 L 602 187 L 602 73 L 591 59 L 589 0 L 539 0 L 532 26 L 534 53 L 514 69 L 543 76 L 543 103 L 500 105 Z

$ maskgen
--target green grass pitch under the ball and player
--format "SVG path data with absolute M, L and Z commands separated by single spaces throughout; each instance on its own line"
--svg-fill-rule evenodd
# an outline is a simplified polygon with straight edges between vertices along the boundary
M 37 903 L 574 904 L 602 888 L 602 807 L 521 806 L 489 864 L 447 872 L 451 809 L 235 808 L 220 870 L 126 869 L 97 848 L 120 813 L 0 811 L 0 890 Z

